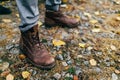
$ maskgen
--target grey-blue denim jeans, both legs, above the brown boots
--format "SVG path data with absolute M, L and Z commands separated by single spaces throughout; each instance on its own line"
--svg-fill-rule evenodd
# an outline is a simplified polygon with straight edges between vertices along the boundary
M 25 32 L 37 24 L 39 19 L 38 0 L 16 0 L 21 18 L 19 26 Z M 58 11 L 61 0 L 46 0 L 46 10 Z

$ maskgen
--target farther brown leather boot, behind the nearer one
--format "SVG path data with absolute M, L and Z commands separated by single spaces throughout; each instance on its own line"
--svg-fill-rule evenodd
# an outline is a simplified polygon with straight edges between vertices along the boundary
M 74 28 L 79 25 L 79 20 L 75 18 L 70 18 L 61 11 L 53 12 L 53 11 L 46 11 L 45 17 L 45 25 L 47 26 L 67 26 L 69 28 Z

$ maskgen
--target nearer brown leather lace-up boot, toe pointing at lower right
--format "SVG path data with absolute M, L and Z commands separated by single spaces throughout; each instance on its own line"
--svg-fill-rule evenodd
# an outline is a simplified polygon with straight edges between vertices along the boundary
M 55 65 L 55 59 L 39 41 L 38 25 L 21 32 L 20 49 L 33 65 L 41 69 L 51 69 Z

